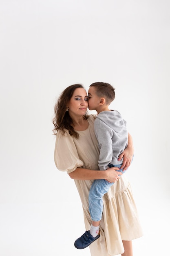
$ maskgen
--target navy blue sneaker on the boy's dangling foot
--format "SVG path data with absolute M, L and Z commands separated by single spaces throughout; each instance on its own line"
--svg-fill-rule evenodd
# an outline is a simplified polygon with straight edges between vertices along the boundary
M 97 240 L 97 238 L 99 238 L 99 236 L 100 236 L 100 231 L 96 237 L 93 237 L 90 234 L 90 231 L 88 230 L 82 236 L 77 238 L 77 240 L 75 240 L 74 246 L 77 249 L 84 249 L 84 248 L 88 247 L 89 245 L 91 245 L 91 243 L 93 243 L 95 240 Z

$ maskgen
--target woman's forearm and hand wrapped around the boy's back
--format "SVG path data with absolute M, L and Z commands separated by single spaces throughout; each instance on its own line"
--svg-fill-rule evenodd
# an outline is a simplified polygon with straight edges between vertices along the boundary
M 130 166 L 130 164 L 132 162 L 133 155 L 134 155 L 133 140 L 132 140 L 132 136 L 130 135 L 130 133 L 128 133 L 128 146 L 124 150 L 124 152 L 122 152 L 119 155 L 119 159 L 118 159 L 118 160 L 120 160 L 122 157 L 124 157 L 124 161 L 122 163 L 122 168 L 124 169 L 124 171 L 127 170 L 127 168 Z

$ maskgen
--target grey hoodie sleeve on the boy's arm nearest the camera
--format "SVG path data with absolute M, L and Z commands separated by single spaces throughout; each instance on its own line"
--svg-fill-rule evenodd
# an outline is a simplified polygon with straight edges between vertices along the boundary
M 98 140 L 100 155 L 99 155 L 99 169 L 106 170 L 108 164 L 112 160 L 113 150 L 112 150 L 112 136 L 113 130 L 109 128 L 100 119 L 95 120 L 95 134 Z

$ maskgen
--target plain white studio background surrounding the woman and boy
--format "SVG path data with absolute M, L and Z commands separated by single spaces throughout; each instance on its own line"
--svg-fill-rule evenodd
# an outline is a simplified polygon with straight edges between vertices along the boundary
M 169 253 L 170 1 L 0 0 L 0 256 L 90 256 L 74 181 L 55 167 L 53 109 L 68 85 L 111 83 L 135 146 L 127 175 L 144 236 Z M 169 234 L 169 233 L 168 233 Z

